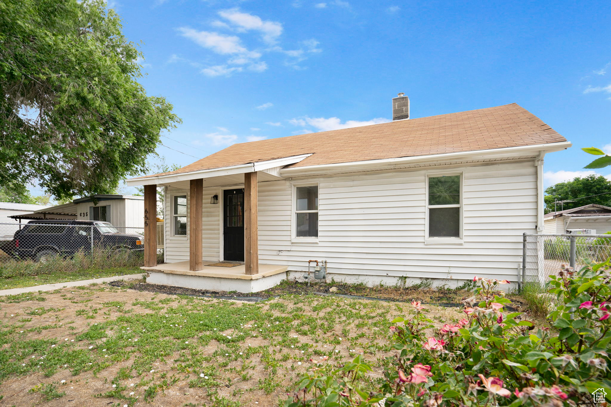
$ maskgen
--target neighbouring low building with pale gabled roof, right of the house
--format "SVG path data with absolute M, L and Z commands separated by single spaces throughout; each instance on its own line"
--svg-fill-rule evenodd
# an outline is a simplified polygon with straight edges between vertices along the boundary
M 611 231 L 611 207 L 590 204 L 544 216 L 544 233 L 567 233 L 575 229 L 591 229 L 596 234 Z

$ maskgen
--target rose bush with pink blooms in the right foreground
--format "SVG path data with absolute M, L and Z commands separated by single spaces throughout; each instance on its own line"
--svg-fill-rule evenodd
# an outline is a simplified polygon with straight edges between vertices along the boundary
M 362 355 L 343 366 L 317 361 L 296 383 L 298 406 L 576 406 L 591 393 L 611 397 L 609 260 L 579 272 L 563 266 L 547 285 L 558 305 L 535 326 L 499 290 L 506 280 L 474 278 L 464 318 L 434 328 L 419 301 L 390 327 L 397 353 L 383 378 Z

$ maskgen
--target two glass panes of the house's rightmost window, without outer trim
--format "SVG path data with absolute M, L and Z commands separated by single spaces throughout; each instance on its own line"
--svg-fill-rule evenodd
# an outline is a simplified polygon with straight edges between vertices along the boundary
M 428 178 L 428 237 L 461 237 L 461 176 Z

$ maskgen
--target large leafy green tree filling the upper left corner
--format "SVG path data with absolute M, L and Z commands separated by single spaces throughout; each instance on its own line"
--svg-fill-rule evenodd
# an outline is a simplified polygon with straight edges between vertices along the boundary
M 180 119 L 101 0 L 0 1 L 0 185 L 111 193 Z

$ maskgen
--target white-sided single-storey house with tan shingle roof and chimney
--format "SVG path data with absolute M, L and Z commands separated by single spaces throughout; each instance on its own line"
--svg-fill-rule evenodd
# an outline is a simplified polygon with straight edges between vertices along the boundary
M 409 118 L 400 94 L 389 123 L 235 144 L 129 180 L 145 210 L 166 187 L 166 264 L 145 246 L 143 268 L 151 283 L 243 292 L 313 279 L 316 264 L 327 281 L 515 283 L 522 233 L 543 232 L 543 158 L 569 146 L 517 104 Z

